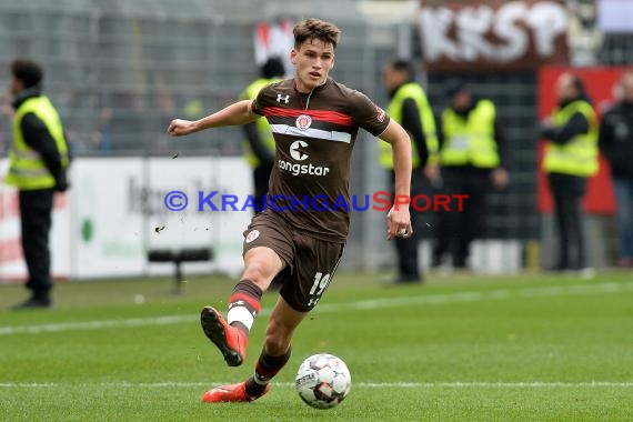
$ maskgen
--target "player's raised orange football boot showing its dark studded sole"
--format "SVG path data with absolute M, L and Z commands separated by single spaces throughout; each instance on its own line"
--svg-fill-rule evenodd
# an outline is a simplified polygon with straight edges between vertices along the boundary
M 227 323 L 222 314 L 212 307 L 204 307 L 200 314 L 202 330 L 209 340 L 222 352 L 229 366 L 239 366 L 247 358 L 249 338 L 242 330 Z

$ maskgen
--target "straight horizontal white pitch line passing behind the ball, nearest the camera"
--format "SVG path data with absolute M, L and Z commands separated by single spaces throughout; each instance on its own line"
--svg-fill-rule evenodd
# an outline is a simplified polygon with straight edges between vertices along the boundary
M 60 389 L 60 388 L 141 388 L 141 389 L 178 389 L 225 384 L 227 382 L 97 382 L 97 383 L 61 383 L 61 382 L 4 382 L 0 383 L 3 389 Z M 292 382 L 273 382 L 273 385 L 294 386 Z M 551 388 L 633 388 L 633 381 L 586 381 L 586 382 L 561 382 L 561 381 L 526 381 L 526 382 L 485 382 L 485 381 L 454 381 L 454 382 L 356 382 L 352 388 L 365 389 L 551 389 Z

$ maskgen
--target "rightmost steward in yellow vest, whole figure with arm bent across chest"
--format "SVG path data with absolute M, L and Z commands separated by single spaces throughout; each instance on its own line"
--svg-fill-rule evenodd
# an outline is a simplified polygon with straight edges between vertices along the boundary
M 560 234 L 556 271 L 590 273 L 583 230 L 582 199 L 586 180 L 597 173 L 599 122 L 583 81 L 565 72 L 556 80 L 557 104 L 541 127 L 547 140 L 542 168 L 554 199 Z

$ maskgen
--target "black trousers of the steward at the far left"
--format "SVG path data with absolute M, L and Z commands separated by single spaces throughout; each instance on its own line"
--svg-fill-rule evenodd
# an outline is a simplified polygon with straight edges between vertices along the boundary
M 52 289 L 49 233 L 52 221 L 53 190 L 20 191 L 22 253 L 29 270 L 27 288 L 36 299 L 50 299 Z

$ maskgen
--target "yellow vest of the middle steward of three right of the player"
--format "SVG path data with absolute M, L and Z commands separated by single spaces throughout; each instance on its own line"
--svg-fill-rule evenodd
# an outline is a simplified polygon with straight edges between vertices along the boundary
M 465 119 L 453 109 L 445 109 L 442 112 L 444 143 L 440 151 L 440 164 L 472 164 L 481 169 L 499 167 L 494 140 L 495 113 L 490 100 L 479 100 Z

